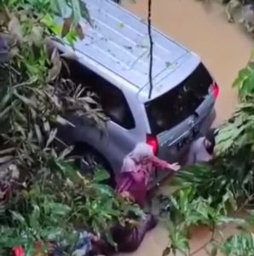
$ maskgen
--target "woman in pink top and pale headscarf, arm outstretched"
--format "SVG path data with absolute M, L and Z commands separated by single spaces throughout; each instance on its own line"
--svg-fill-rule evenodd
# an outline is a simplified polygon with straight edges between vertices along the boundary
M 125 158 L 117 179 L 117 193 L 144 207 L 147 199 L 147 186 L 155 168 L 178 171 L 178 163 L 170 164 L 153 154 L 147 143 L 138 143 Z

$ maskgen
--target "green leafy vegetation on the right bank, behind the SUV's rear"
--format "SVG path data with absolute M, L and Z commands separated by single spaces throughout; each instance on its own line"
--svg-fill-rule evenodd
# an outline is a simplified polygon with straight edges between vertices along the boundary
M 254 233 L 254 94 L 253 55 L 239 73 L 234 87 L 239 91 L 240 106 L 232 118 L 220 127 L 216 137 L 216 159 L 209 166 L 193 166 L 179 172 L 179 189 L 164 199 L 163 207 L 170 208 L 170 245 L 164 255 L 195 255 L 205 249 L 207 255 L 253 255 Z M 240 218 L 240 213 L 245 218 Z M 226 224 L 234 224 L 237 234 L 224 237 Z M 211 229 L 211 241 L 191 252 L 190 230 L 205 225 Z M 221 232 L 219 232 L 221 230 Z

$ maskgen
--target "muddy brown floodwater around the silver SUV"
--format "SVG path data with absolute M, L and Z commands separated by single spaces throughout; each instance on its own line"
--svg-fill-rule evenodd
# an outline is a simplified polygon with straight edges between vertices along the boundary
M 146 19 L 147 0 L 124 3 L 124 6 Z M 246 35 L 240 26 L 229 24 L 221 6 L 208 6 L 195 0 L 153 0 L 152 21 L 153 26 L 160 31 L 201 55 L 221 88 L 216 102 L 215 123 L 218 125 L 228 119 L 237 106 L 232 83 L 238 71 L 248 61 L 253 38 Z M 233 227 L 227 227 L 225 234 L 233 231 Z M 198 228 L 193 233 L 191 247 L 192 252 L 195 252 L 209 241 L 211 233 L 205 228 Z M 141 247 L 131 255 L 160 256 L 167 243 L 166 230 L 158 226 L 147 234 Z M 207 253 L 199 250 L 194 255 L 205 256 Z

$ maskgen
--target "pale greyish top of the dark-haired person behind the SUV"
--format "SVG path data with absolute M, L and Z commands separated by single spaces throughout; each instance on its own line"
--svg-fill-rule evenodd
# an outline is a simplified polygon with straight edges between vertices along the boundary
M 192 166 L 195 164 L 207 163 L 212 160 L 212 158 L 213 155 L 209 154 L 205 148 L 205 137 L 199 137 L 192 143 L 189 149 L 186 165 Z

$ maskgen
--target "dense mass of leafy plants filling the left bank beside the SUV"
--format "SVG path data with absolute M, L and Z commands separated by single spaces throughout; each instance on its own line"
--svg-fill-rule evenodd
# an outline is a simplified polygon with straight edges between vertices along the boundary
M 82 6 L 81 6 L 82 4 Z M 66 17 L 66 9 L 72 13 Z M 54 17 L 64 17 L 55 24 Z M 84 37 L 79 20 L 89 20 L 84 3 L 9 0 L 0 5 L 0 37 L 9 46 L 9 61 L 0 65 L 0 254 L 21 246 L 35 255 L 41 242 L 65 242 L 71 253 L 78 230 L 104 234 L 127 214 L 141 210 L 118 198 L 101 182 L 107 172 L 83 177 L 73 164 L 72 147 L 58 150 L 57 126 L 66 113 L 86 115 L 103 129 L 105 117 L 95 96 L 70 79 L 61 78 L 66 66 L 49 37 L 72 44 Z M 62 145 L 64 146 L 64 145 Z M 111 241 L 113 242 L 113 241 Z M 43 254 L 44 255 L 44 254 Z

